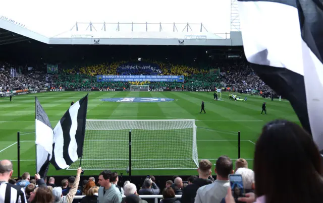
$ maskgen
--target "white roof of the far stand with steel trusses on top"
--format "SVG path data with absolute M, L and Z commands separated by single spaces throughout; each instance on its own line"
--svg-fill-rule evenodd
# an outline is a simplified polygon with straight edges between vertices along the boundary
M 4 19 L 0 19 L 0 28 L 46 44 L 242 46 L 240 31 L 209 33 L 202 23 L 76 23 L 54 37 Z

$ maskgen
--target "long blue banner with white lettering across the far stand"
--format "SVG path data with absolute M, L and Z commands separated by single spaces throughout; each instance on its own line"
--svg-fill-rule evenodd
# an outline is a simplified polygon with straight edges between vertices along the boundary
M 184 76 L 96 76 L 97 82 L 184 82 Z

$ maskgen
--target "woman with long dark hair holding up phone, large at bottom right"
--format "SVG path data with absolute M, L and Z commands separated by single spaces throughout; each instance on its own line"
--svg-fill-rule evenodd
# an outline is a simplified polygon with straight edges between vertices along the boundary
M 274 120 L 263 126 L 255 145 L 253 168 L 255 194 L 247 193 L 239 201 L 322 202 L 321 155 L 310 134 L 296 123 Z M 291 168 L 282 174 L 283 169 Z M 226 202 L 234 202 L 229 190 Z

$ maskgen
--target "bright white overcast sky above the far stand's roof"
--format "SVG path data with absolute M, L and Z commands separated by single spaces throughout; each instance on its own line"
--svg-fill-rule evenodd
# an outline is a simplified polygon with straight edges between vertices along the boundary
M 229 0 L 10 0 L 1 1 L 0 15 L 25 24 L 47 37 L 70 30 L 76 22 L 203 23 L 208 32 L 229 33 Z M 101 30 L 97 25 L 96 30 Z M 144 26 L 137 30 L 145 31 Z M 151 28 L 150 28 L 151 27 Z M 157 26 L 150 26 L 158 31 Z M 184 26 L 177 26 L 182 31 Z M 79 30 L 86 26 L 80 26 Z M 131 31 L 131 25 L 121 27 Z M 199 26 L 192 26 L 199 31 Z

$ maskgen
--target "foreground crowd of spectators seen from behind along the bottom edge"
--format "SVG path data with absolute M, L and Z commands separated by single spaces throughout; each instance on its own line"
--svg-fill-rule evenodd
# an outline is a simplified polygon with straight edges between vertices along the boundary
M 297 167 L 295 167 L 297 164 Z M 283 171 L 289 170 L 288 173 Z M 253 170 L 245 159 L 231 160 L 220 156 L 212 171 L 209 160 L 200 160 L 198 176 L 188 178 L 188 183 L 179 176 L 166 182 L 160 191 L 154 176 L 144 179 L 141 188 L 126 181 L 118 185 L 118 173 L 102 171 L 95 182 L 94 177 L 82 181 L 82 169 L 76 176 L 62 180 L 58 186 L 55 178 L 41 178 L 35 174 L 30 180 L 24 173 L 18 182 L 10 179 L 13 165 L 9 160 L 0 161 L 0 202 L 153 202 L 139 195 L 162 194 L 163 203 L 234 203 L 234 202 L 296 202 L 318 203 L 323 195 L 323 168 L 320 153 L 310 134 L 301 126 L 286 120 L 274 120 L 265 124 L 255 145 Z M 216 180 L 212 172 L 217 174 Z M 243 195 L 237 195 L 230 184 L 230 174 L 240 174 L 243 181 Z M 282 180 L 284 185 L 282 186 Z M 36 181 L 36 182 L 35 182 Z M 138 185 L 138 183 L 137 183 Z M 81 192 L 82 191 L 82 192 Z M 75 199 L 75 195 L 85 195 Z M 176 195 L 181 195 L 179 198 Z M 144 198 L 144 197 L 143 197 Z

